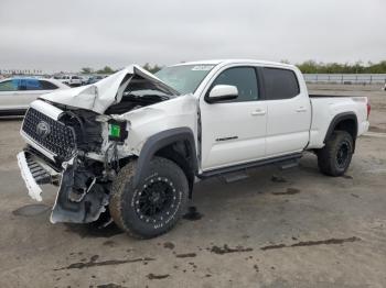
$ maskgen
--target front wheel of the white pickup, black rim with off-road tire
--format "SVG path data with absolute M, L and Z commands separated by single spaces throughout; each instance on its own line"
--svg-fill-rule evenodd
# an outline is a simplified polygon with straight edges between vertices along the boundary
M 154 157 L 147 174 L 132 186 L 137 162 L 128 163 L 112 182 L 109 211 L 116 224 L 138 239 L 171 230 L 186 209 L 189 185 L 173 162 Z

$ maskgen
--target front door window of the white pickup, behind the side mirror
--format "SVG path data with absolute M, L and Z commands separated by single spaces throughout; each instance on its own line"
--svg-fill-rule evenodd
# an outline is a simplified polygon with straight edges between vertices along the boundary
M 215 85 L 233 85 L 237 87 L 238 97 L 230 102 L 255 101 L 259 99 L 256 71 L 253 67 L 235 67 L 223 71 L 213 81 Z

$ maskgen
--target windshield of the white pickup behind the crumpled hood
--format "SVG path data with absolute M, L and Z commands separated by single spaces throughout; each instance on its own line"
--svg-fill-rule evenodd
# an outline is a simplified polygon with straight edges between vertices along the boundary
M 159 70 L 156 76 L 182 95 L 194 93 L 213 67 L 205 64 L 171 66 Z

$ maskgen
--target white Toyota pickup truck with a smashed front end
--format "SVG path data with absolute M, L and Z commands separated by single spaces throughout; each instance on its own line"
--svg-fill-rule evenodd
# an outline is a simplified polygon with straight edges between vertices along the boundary
M 309 96 L 290 65 L 206 60 L 156 76 L 131 65 L 32 102 L 18 162 L 32 198 L 58 186 L 53 223 L 104 213 L 147 239 L 176 223 L 207 177 L 291 165 L 304 151 L 323 174 L 343 175 L 368 113 L 365 97 Z

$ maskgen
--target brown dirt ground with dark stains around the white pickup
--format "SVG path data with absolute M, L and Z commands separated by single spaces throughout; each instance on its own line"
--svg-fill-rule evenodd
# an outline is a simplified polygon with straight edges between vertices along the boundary
M 305 154 L 296 168 L 203 181 L 196 211 L 148 241 L 114 225 L 51 224 L 55 189 L 41 203 L 28 197 L 21 121 L 1 120 L 0 287 L 386 287 L 386 92 L 310 88 L 371 99 L 373 133 L 346 176 L 322 176 Z

